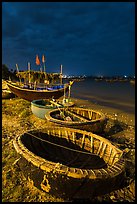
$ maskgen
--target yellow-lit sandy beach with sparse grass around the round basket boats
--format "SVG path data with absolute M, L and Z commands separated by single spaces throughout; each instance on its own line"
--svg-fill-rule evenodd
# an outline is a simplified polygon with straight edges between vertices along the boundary
M 102 137 L 124 151 L 126 184 L 122 189 L 92 201 L 133 202 L 135 201 L 135 115 L 120 109 L 101 106 L 88 100 L 72 98 L 76 106 L 103 112 L 108 118 Z M 30 102 L 15 97 L 2 100 L 2 201 L 3 202 L 65 202 L 38 190 L 27 180 L 18 166 L 19 155 L 13 147 L 17 134 L 33 128 L 46 127 L 45 120 L 34 116 Z

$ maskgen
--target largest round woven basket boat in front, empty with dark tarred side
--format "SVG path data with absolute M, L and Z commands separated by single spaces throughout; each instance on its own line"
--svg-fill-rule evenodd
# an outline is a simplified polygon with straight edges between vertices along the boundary
M 24 176 L 51 195 L 89 199 L 123 186 L 123 152 L 91 132 L 49 126 L 16 136 L 13 145 Z

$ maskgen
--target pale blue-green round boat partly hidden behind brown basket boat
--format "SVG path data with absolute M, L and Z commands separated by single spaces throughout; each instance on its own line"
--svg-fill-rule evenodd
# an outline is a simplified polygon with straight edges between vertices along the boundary
M 33 100 L 31 102 L 31 111 L 32 113 L 37 116 L 38 118 L 45 119 L 45 114 L 47 114 L 48 111 L 53 110 L 58 107 L 64 107 L 64 106 L 73 106 L 74 102 L 62 100 L 54 102 L 52 100 Z

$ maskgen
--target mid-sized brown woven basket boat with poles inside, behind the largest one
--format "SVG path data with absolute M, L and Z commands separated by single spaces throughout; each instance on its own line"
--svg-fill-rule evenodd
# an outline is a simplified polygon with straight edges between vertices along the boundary
M 50 110 L 45 114 L 45 118 L 54 125 L 87 130 L 93 133 L 101 133 L 107 123 L 107 118 L 103 113 L 79 107 Z

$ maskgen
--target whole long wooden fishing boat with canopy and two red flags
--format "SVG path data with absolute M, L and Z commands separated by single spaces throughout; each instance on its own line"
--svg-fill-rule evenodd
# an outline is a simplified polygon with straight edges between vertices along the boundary
M 30 102 L 37 99 L 59 99 L 64 95 L 64 92 L 68 92 L 73 81 L 63 84 L 62 65 L 60 67 L 60 73 L 47 73 L 45 72 L 44 55 L 42 61 L 44 63 L 44 72 L 42 71 L 42 67 L 40 68 L 40 71 L 30 70 L 30 62 L 28 62 L 28 70 L 20 72 L 18 65 L 16 64 L 16 75 L 19 77 L 19 82 L 13 83 L 10 80 L 6 81 L 11 92 Z M 38 55 L 36 55 L 36 64 L 41 66 Z M 23 83 L 22 79 L 24 80 Z M 60 80 L 59 83 L 54 83 L 58 80 Z

